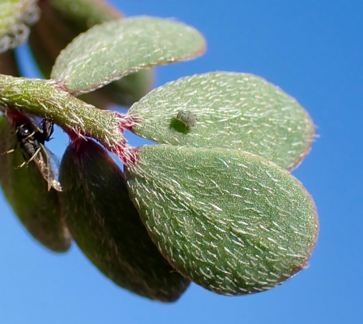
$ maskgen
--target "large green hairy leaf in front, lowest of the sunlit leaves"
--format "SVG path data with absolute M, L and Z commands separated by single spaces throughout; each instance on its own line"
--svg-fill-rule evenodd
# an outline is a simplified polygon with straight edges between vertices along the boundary
M 313 251 L 318 219 L 309 193 L 257 155 L 143 146 L 126 177 L 162 254 L 214 292 L 270 289 L 303 269 Z

